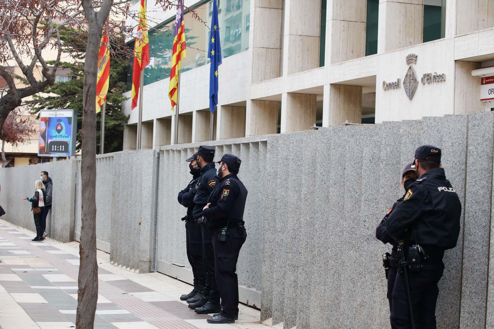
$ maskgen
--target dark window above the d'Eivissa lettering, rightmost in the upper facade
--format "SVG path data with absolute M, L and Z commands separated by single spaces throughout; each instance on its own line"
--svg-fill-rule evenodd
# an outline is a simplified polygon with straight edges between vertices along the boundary
M 424 0 L 423 42 L 444 37 L 445 13 L 445 0 Z

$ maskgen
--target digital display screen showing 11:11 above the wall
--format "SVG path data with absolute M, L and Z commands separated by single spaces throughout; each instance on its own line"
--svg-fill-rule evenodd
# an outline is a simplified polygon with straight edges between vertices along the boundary
M 77 116 L 74 110 L 41 110 L 39 156 L 75 154 Z

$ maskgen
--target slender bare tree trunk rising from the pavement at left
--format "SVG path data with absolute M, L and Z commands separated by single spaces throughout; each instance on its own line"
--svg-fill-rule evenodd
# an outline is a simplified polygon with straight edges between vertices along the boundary
M 84 3 L 84 1 L 83 1 Z M 79 291 L 76 327 L 92 329 L 98 300 L 98 263 L 96 260 L 96 70 L 101 27 L 96 15 L 87 15 L 89 27 L 84 61 L 82 95 L 82 226 L 79 255 Z

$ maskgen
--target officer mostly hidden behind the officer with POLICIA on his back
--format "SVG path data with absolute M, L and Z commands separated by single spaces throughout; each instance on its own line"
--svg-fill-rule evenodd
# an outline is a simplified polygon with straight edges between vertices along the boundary
M 403 201 L 403 198 L 405 197 L 405 193 L 408 191 L 410 185 L 412 185 L 413 182 L 417 179 L 416 176 L 416 171 L 415 171 L 415 164 L 410 163 L 408 164 L 405 169 L 403 169 L 402 172 L 402 179 L 401 179 L 401 184 L 405 188 L 405 192 L 401 198 L 396 200 L 396 202 L 393 204 L 393 207 L 388 211 L 386 216 L 381 220 L 379 225 L 377 226 L 375 230 L 375 237 L 382 241 L 384 244 L 389 243 L 392 246 L 391 249 L 391 254 L 386 253 L 383 255 L 383 262 L 384 262 L 384 268 L 386 269 L 386 279 L 388 283 L 388 290 L 387 290 L 387 297 L 389 301 L 389 310 L 391 311 L 392 308 L 392 296 L 391 293 L 393 292 L 393 287 L 395 285 L 395 279 L 396 279 L 396 272 L 398 270 L 397 266 L 397 259 L 396 259 L 396 252 L 398 250 L 398 243 L 389 236 L 387 228 L 385 226 L 386 219 L 388 218 L 389 214 L 393 211 L 393 209 L 396 208 L 396 206 Z

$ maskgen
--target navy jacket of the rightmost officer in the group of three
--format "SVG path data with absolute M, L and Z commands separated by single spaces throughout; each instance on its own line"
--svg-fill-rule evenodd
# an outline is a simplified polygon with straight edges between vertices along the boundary
M 204 210 L 207 227 L 217 229 L 243 223 L 246 200 L 247 188 L 237 175 L 223 177 L 209 197 L 211 205 Z

